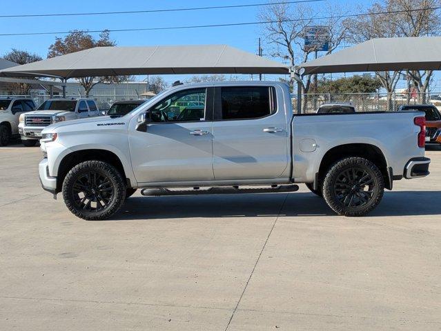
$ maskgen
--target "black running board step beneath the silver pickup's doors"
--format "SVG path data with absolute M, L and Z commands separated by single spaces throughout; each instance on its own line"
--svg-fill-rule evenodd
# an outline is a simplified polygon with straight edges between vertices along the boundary
M 169 190 L 168 188 L 144 188 L 141 194 L 146 197 L 159 197 L 164 195 L 206 195 L 206 194 L 246 194 L 246 193 L 283 193 L 299 190 L 298 185 L 279 185 L 273 188 L 236 188 L 216 187 L 193 190 Z

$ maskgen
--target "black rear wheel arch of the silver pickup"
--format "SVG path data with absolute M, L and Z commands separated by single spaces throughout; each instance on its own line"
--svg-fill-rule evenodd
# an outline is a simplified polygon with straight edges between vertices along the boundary
M 386 157 L 378 146 L 371 143 L 346 143 L 328 150 L 320 162 L 315 182 L 322 181 L 331 165 L 345 157 L 362 157 L 373 162 L 383 174 L 385 187 L 388 190 L 392 189 L 392 173 L 391 168 L 387 165 Z M 318 183 L 314 183 L 314 185 L 318 185 Z

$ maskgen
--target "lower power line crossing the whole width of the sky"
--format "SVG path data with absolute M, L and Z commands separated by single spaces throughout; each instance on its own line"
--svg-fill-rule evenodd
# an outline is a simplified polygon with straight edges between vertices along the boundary
M 196 28 L 224 28 L 227 26 L 253 26 L 259 24 L 279 23 L 279 22 L 300 22 L 300 21 L 314 21 L 320 19 L 344 19 L 349 17 L 360 17 L 365 15 L 381 15 L 381 14 L 399 14 L 400 12 L 417 12 L 422 10 L 438 10 L 441 6 L 431 8 L 418 8 L 410 10 L 391 10 L 386 12 L 364 12 L 362 14 L 345 14 L 328 17 L 310 17 L 307 19 L 283 19 L 280 21 L 259 21 L 259 22 L 242 22 L 242 23 L 224 23 L 224 24 L 208 24 L 200 26 L 165 26 L 159 28 L 133 28 L 133 29 L 104 29 L 104 30 L 75 30 L 76 32 L 95 33 L 95 32 L 139 32 L 139 31 L 159 31 L 159 30 L 185 30 Z M 37 36 L 44 34 L 69 34 L 72 31 L 53 31 L 53 32 L 21 32 L 21 33 L 2 33 L 0 37 L 8 36 Z

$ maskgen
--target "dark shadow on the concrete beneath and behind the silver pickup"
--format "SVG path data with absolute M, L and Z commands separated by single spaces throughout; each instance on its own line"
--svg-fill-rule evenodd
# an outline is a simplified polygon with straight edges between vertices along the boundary
M 181 197 L 132 197 L 109 221 L 222 217 L 335 216 L 323 199 L 309 192 L 288 194 L 222 194 Z M 368 217 L 441 214 L 441 191 L 385 192 Z

